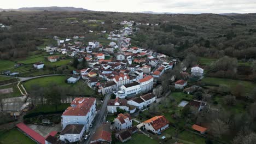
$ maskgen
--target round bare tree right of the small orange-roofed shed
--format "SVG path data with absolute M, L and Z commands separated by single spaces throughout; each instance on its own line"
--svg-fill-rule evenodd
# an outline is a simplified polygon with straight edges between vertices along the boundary
M 211 132 L 214 136 L 216 137 L 220 137 L 223 134 L 225 134 L 226 132 L 228 132 L 229 130 L 229 125 L 224 123 L 222 120 L 220 119 L 215 119 L 212 123 L 211 123 Z

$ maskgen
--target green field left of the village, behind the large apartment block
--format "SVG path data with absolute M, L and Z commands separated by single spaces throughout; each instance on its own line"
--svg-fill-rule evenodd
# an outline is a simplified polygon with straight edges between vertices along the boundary
M 50 87 L 52 83 L 55 83 L 57 86 L 67 87 L 67 88 L 76 88 L 76 86 L 79 85 L 79 83 L 82 83 L 82 81 L 78 81 L 76 83 L 65 83 L 65 80 L 67 79 L 66 76 L 48 76 L 48 77 L 41 77 L 38 79 L 33 79 L 24 82 L 24 87 L 26 88 L 27 92 L 31 91 L 32 85 L 39 85 L 40 87 Z M 84 94 L 91 95 L 95 94 L 95 92 L 89 88 L 87 85 L 84 86 Z

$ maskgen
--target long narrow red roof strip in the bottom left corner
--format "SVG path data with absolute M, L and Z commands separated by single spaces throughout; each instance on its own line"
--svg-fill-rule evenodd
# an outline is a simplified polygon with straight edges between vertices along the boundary
M 16 126 L 22 130 L 24 133 L 26 133 L 27 135 L 29 135 L 30 137 L 32 137 L 34 140 L 36 140 L 39 143 L 44 144 L 45 143 L 45 139 L 42 135 L 38 134 L 36 131 L 32 130 L 30 127 L 27 127 L 27 125 L 25 125 L 24 123 L 18 123 L 16 124 Z

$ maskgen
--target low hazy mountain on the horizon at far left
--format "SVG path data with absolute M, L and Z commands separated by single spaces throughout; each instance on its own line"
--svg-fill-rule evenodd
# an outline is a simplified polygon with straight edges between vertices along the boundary
M 19 8 L 19 9 L 0 9 L 0 11 L 88 11 L 84 8 L 74 8 L 74 7 L 31 7 L 31 8 Z

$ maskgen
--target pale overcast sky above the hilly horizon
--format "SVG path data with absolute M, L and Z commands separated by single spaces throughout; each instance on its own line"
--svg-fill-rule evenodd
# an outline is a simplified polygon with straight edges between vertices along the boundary
M 169 13 L 256 13 L 256 0 L 6 0 L 0 8 L 76 7 L 97 11 Z

